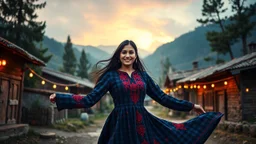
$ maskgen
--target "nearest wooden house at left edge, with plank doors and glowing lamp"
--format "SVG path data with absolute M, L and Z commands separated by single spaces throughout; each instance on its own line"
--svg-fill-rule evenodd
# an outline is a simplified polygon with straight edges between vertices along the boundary
M 45 66 L 43 61 L 0 37 L 0 139 L 28 129 L 28 125 L 21 124 L 25 64 Z

